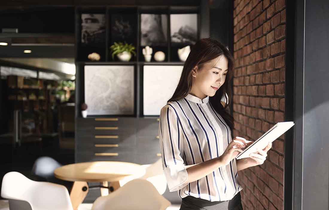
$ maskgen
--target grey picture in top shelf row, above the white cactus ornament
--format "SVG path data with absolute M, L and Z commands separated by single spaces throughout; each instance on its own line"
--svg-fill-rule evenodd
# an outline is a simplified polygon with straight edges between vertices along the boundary
M 166 14 L 140 14 L 140 46 L 167 46 Z

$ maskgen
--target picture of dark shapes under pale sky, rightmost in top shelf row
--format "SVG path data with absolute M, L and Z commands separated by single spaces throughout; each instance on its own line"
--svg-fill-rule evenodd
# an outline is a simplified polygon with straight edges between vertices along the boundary
M 197 20 L 197 14 L 170 14 L 171 45 L 194 45 L 198 39 Z

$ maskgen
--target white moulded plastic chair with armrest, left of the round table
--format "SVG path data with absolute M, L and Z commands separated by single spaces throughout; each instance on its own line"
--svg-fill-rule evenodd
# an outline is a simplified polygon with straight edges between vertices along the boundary
M 1 197 L 23 200 L 32 210 L 73 210 L 66 187 L 33 181 L 18 172 L 8 172 L 2 179 Z

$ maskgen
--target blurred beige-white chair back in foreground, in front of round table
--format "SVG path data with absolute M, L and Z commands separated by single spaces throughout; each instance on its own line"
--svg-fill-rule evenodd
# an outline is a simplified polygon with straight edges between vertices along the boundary
M 91 210 L 165 210 L 171 203 L 145 179 L 133 179 L 108 196 L 98 197 Z

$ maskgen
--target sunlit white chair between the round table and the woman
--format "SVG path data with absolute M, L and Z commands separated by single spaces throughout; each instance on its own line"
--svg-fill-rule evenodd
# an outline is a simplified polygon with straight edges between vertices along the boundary
M 152 164 L 142 165 L 145 168 L 145 174 L 143 176 L 139 176 L 135 179 L 146 179 L 151 182 L 154 187 L 158 190 L 160 195 L 163 195 L 167 188 L 167 180 L 164 176 L 163 168 L 162 168 L 162 159 L 160 158 L 156 162 Z M 128 179 L 122 179 L 119 181 L 120 187 L 125 185 L 127 182 L 131 181 L 133 178 L 128 177 Z

